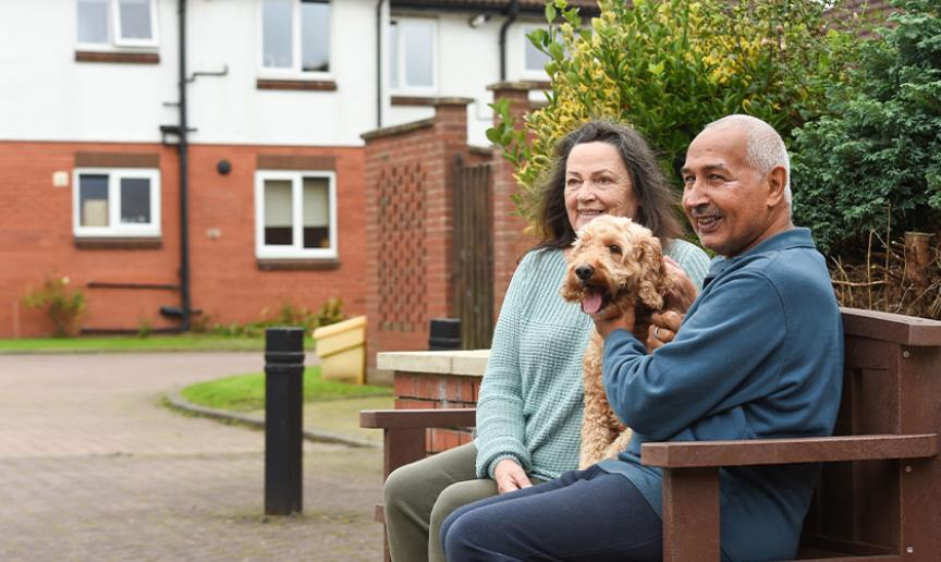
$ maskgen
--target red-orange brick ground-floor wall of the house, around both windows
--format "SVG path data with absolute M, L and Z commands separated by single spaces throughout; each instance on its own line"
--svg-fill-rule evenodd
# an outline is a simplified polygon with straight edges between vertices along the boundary
M 72 235 L 72 171 L 75 152 L 159 154 L 161 244 L 158 248 L 78 248 Z M 330 156 L 335 159 L 340 266 L 332 270 L 258 269 L 255 259 L 255 169 L 259 154 Z M 290 302 L 316 309 L 340 296 L 350 315 L 365 310 L 363 149 L 192 145 L 190 244 L 192 303 L 220 323 L 258 320 Z M 228 175 L 216 163 L 232 163 Z M 53 187 L 65 171 L 68 187 Z M 155 144 L 0 143 L 0 338 L 51 332 L 45 314 L 21 303 L 29 286 L 52 274 L 83 289 L 91 328 L 137 329 L 175 322 L 161 305 L 179 306 L 172 290 L 86 288 L 89 281 L 179 284 L 179 167 L 175 147 Z M 210 237 L 217 229 L 219 237 Z

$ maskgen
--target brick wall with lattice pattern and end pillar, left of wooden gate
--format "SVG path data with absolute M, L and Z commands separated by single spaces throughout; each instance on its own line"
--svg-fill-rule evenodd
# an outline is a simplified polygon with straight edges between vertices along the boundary
M 366 170 L 367 363 L 428 349 L 428 322 L 451 315 L 451 162 L 467 155 L 468 98 L 435 117 L 363 134 Z

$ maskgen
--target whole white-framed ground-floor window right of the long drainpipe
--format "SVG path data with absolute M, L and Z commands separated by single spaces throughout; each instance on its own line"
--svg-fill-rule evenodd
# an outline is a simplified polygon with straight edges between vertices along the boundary
M 259 258 L 335 258 L 333 172 L 258 171 L 255 247 Z

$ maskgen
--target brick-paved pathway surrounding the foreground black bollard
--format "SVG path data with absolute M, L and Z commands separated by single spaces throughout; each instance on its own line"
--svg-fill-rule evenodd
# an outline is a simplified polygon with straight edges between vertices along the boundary
M 304 514 L 266 520 L 264 433 L 159 404 L 261 361 L 0 355 L 0 560 L 379 560 L 379 450 L 305 444 Z

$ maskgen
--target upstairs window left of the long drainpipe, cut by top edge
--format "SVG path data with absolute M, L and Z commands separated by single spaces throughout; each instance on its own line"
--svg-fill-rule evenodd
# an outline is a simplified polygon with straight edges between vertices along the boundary
M 78 45 L 97 49 L 157 47 L 154 0 L 76 0 Z

